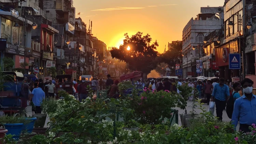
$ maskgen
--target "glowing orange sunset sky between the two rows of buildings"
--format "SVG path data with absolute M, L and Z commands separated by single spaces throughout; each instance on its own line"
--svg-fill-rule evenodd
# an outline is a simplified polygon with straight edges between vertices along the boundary
M 200 7 L 223 6 L 224 0 L 73 0 L 76 14 L 107 47 L 122 43 L 124 33 L 149 33 L 163 53 L 168 42 L 182 40 L 182 30 Z M 76 18 L 79 17 L 76 15 Z

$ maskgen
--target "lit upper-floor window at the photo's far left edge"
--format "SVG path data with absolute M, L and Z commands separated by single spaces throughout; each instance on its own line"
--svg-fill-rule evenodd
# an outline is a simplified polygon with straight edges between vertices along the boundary
M 12 42 L 12 21 L 2 18 L 1 38 Z

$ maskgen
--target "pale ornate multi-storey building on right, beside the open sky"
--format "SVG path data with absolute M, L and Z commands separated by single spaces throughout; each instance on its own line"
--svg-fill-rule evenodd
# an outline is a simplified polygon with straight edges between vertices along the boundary
M 223 7 L 201 8 L 201 13 L 195 19 L 192 17 L 184 27 L 182 34 L 182 52 L 184 54 L 182 63 L 183 77 L 197 76 L 196 60 L 205 55 L 202 48 L 204 36 L 215 29 L 222 28 L 222 18 L 219 14 L 221 9 Z M 197 48 L 193 50 L 193 46 Z M 194 72 L 194 75 L 191 75 L 191 72 Z

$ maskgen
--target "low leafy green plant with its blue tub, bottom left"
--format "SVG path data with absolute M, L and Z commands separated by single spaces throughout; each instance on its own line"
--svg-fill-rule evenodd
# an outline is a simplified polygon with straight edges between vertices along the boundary
M 14 117 L 14 116 L 3 116 L 0 117 L 1 124 L 4 128 L 8 130 L 6 134 L 14 135 L 14 139 L 19 139 L 22 127 L 25 124 L 29 124 L 31 121 L 24 117 Z

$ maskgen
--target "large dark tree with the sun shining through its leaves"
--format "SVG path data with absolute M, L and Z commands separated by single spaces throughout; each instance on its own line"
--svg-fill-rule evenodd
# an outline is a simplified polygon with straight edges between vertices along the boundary
M 127 49 L 128 46 L 130 49 Z M 129 37 L 128 33 L 125 33 L 124 44 L 118 48 L 113 47 L 110 52 L 112 58 L 128 63 L 130 70 L 150 73 L 156 68 L 154 61 L 158 56 L 157 46 L 157 41 L 152 43 L 149 34 L 143 36 L 142 32 L 137 32 Z

